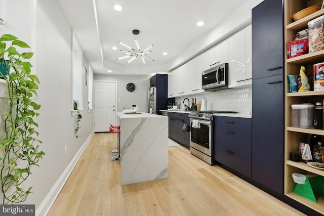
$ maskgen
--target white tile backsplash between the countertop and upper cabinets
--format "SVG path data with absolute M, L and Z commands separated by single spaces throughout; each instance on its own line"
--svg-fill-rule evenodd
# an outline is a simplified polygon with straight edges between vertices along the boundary
M 252 87 L 184 96 L 176 98 L 176 102 L 178 104 L 183 103 L 185 98 L 189 99 L 190 107 L 192 98 L 195 98 L 197 103 L 205 98 L 208 101 L 208 110 L 236 111 L 252 115 Z M 186 100 L 185 104 L 187 103 L 188 101 Z

